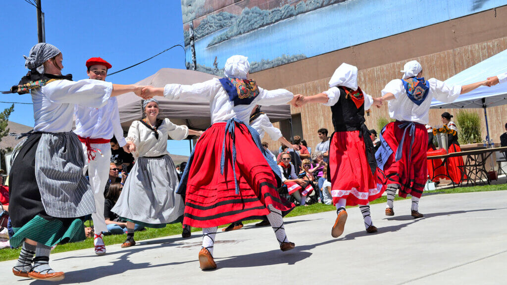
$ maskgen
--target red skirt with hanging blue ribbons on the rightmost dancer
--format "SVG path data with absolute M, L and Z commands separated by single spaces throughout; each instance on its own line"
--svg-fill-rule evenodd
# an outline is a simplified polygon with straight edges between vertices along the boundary
M 424 191 L 424 185 L 428 179 L 428 166 L 426 164 L 428 148 L 428 132 L 422 124 L 415 124 L 414 143 L 410 149 L 412 137 L 407 130 L 403 146 L 400 141 L 403 137 L 404 129 L 398 126 L 403 122 L 391 122 L 385 126 L 382 137 L 387 142 L 393 153 L 384 164 L 384 170 L 377 168 L 377 181 L 382 183 L 385 190 L 388 184 L 400 186 L 398 195 L 407 197 L 408 194 L 421 198 Z M 402 158 L 395 161 L 396 150 L 403 148 Z

